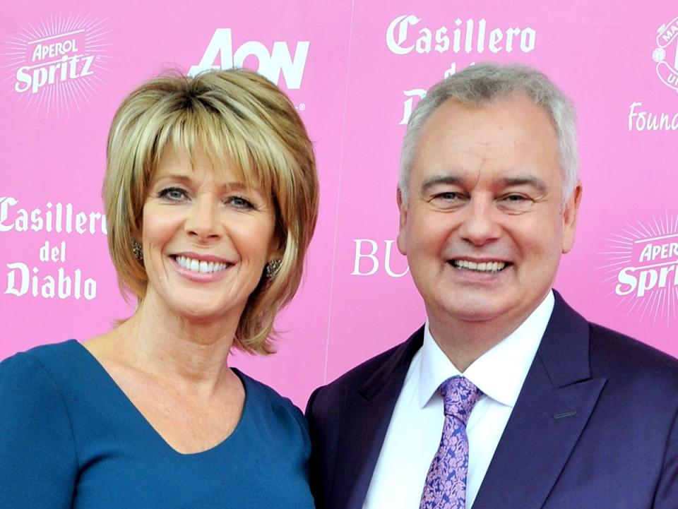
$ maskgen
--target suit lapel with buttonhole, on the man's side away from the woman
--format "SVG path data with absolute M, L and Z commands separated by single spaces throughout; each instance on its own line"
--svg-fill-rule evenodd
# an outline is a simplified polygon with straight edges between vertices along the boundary
M 591 378 L 588 322 L 556 304 L 473 509 L 539 509 L 567 462 L 605 378 Z

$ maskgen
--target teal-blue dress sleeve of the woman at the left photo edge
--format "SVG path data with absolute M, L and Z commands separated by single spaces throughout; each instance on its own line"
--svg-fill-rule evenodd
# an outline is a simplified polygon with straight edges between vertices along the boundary
M 0 508 L 70 509 L 78 472 L 71 421 L 30 354 L 0 363 Z

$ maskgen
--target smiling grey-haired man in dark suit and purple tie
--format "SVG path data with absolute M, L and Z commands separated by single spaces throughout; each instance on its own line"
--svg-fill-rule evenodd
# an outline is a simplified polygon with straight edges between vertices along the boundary
M 678 508 L 678 362 L 552 291 L 577 167 L 533 69 L 472 66 L 417 105 L 398 248 L 427 323 L 311 396 L 319 509 Z

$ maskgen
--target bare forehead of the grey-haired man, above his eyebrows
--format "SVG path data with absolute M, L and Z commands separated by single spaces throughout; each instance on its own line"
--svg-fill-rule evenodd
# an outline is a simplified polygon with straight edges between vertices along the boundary
M 422 130 L 410 179 L 420 191 L 479 181 L 545 190 L 561 184 L 557 136 L 549 115 L 524 95 L 484 106 L 448 100 Z

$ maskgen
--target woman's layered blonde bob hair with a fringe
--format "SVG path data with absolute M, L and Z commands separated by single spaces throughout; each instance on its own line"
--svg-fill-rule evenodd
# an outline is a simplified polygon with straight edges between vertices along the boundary
M 273 353 L 273 320 L 297 292 L 318 215 L 316 160 L 302 120 L 273 83 L 244 69 L 162 76 L 126 97 L 108 136 L 103 198 L 121 292 L 133 292 L 140 303 L 148 277 L 132 240 L 141 239 L 148 187 L 167 148 L 191 161 L 203 154 L 214 168 L 231 165 L 244 184 L 271 198 L 282 265 L 275 277 L 262 274 L 234 345 Z

